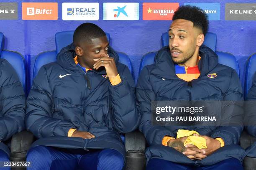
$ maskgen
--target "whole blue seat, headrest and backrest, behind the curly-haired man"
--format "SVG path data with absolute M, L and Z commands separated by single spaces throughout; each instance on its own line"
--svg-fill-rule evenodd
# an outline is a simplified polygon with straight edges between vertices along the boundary
M 205 36 L 205 41 L 204 41 L 204 45 L 210 47 L 212 50 L 216 48 L 216 41 L 217 40 L 217 36 L 215 33 L 207 33 L 207 35 Z M 162 42 L 162 46 L 169 46 L 169 35 L 168 33 L 163 33 L 161 36 L 161 42 Z M 140 69 L 139 72 L 143 69 L 144 66 L 150 65 L 155 63 L 154 58 L 156 55 L 156 51 L 155 52 L 151 52 L 151 53 L 147 53 L 145 54 L 142 58 L 141 58 L 141 64 L 140 64 Z M 225 52 L 219 52 L 219 51 L 215 51 L 215 53 L 219 56 L 219 63 L 229 66 L 233 69 L 236 70 L 236 72 L 238 73 L 238 76 L 240 75 L 239 73 L 239 66 L 238 66 L 238 62 L 236 60 L 236 57 L 233 56 L 231 53 L 225 53 Z

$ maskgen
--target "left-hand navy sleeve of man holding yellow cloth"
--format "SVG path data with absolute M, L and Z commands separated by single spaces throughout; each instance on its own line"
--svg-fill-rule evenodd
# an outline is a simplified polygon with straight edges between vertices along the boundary
M 174 134 L 164 126 L 152 125 L 151 101 L 156 100 L 156 94 L 149 80 L 149 75 L 148 68 L 144 67 L 138 78 L 136 88 L 136 96 L 141 114 L 139 129 L 143 132 L 149 145 L 161 145 L 164 136 L 174 137 Z

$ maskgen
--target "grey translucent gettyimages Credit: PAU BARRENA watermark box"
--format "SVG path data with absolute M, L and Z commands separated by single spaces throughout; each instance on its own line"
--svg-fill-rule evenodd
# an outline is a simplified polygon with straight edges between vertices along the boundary
M 236 125 L 243 121 L 243 101 L 152 101 L 154 125 Z

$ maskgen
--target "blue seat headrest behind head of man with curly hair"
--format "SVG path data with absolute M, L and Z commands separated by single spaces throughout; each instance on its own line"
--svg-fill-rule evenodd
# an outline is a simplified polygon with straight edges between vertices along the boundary
M 204 45 L 211 48 L 212 51 L 216 50 L 217 35 L 215 33 L 207 33 L 205 35 Z M 169 46 L 169 34 L 163 33 L 161 36 L 162 47 Z

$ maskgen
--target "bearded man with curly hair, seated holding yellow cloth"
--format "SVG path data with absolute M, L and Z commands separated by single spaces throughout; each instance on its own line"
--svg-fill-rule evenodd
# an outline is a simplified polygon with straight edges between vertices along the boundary
M 146 150 L 147 170 L 243 169 L 243 149 L 237 145 L 243 130 L 242 104 L 235 102 L 230 107 L 227 104 L 215 108 L 223 101 L 243 101 L 241 84 L 236 71 L 219 64 L 214 51 L 202 45 L 207 29 L 207 15 L 200 8 L 179 7 L 169 28 L 169 46 L 158 51 L 156 63 L 141 71 L 136 96 L 140 130 L 150 145 Z M 151 107 L 159 106 L 161 101 L 209 101 L 205 102 L 212 104 L 209 113 L 217 118 L 229 114 L 227 118 L 236 121 L 225 122 L 228 126 L 215 125 L 213 121 L 194 124 L 194 119 L 184 125 L 154 124 Z M 159 115 L 172 116 L 164 109 L 162 112 Z

